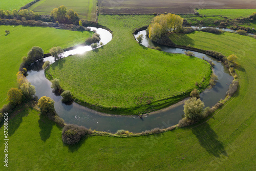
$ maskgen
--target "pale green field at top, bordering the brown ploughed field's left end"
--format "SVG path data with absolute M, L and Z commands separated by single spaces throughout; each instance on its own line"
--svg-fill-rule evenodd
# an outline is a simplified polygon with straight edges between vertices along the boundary
M 96 19 L 96 0 L 41 0 L 32 5 L 29 10 L 38 12 L 39 14 L 50 15 L 54 8 L 61 5 L 67 9 L 73 9 L 78 13 L 80 18 L 94 21 Z

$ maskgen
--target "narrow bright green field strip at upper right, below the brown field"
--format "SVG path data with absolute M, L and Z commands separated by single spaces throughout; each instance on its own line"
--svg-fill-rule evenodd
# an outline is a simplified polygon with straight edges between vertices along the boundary
M 197 10 L 200 15 L 212 16 L 222 15 L 230 19 L 249 17 L 256 9 L 199 9 Z

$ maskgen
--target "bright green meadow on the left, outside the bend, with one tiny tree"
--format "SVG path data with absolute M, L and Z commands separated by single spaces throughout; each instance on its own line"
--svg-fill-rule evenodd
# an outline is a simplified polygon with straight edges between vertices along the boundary
M 5 35 L 5 30 L 10 30 L 10 34 Z M 54 46 L 71 47 L 92 35 L 92 32 L 23 26 L 0 26 L 0 33 L 0 108 L 7 102 L 8 90 L 16 87 L 16 73 L 22 57 L 33 46 L 39 46 L 48 53 Z

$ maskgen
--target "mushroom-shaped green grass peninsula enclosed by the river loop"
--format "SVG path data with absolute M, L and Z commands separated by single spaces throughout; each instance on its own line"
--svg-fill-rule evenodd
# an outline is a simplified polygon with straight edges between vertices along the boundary
M 206 61 L 148 49 L 134 40 L 132 30 L 137 23 L 140 27 L 148 24 L 148 18 L 151 16 L 100 15 L 101 25 L 113 31 L 111 42 L 58 60 L 47 72 L 60 79 L 60 86 L 78 101 L 104 106 L 104 112 L 115 114 L 158 110 L 188 96 L 197 88 L 196 82 L 206 88 L 211 74 Z

